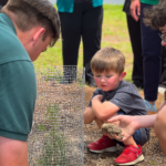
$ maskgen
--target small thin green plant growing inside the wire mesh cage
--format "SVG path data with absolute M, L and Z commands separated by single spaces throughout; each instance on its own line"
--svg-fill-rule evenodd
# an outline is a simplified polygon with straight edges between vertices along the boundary
M 44 134 L 43 154 L 39 160 L 40 166 L 65 166 L 65 137 L 59 131 L 59 105 L 48 106 L 48 120 L 51 126 Z

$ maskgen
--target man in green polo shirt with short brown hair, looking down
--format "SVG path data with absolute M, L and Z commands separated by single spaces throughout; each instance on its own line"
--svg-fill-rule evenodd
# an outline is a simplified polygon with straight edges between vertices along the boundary
M 48 0 L 9 0 L 0 13 L 0 166 L 28 166 L 37 98 L 32 61 L 60 37 Z

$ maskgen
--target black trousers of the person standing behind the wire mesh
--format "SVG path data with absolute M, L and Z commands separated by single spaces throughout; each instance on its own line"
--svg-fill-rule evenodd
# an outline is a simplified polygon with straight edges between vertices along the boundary
M 101 49 L 103 7 L 93 8 L 92 2 L 75 2 L 73 13 L 59 12 L 62 31 L 63 65 L 77 65 L 81 37 L 85 81 L 93 79 L 90 62 Z

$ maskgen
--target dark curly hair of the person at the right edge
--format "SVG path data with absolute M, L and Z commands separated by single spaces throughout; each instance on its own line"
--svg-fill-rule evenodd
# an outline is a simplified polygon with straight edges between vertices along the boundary
M 144 23 L 157 30 L 166 24 L 166 0 L 144 10 Z

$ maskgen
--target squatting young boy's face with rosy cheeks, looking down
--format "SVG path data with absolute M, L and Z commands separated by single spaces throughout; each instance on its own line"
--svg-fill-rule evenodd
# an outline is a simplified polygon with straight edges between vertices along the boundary
M 126 75 L 125 72 L 118 74 L 114 71 L 103 73 L 93 72 L 93 74 L 96 85 L 102 89 L 102 91 L 115 90 L 118 86 L 120 82 L 123 80 L 123 77 Z

